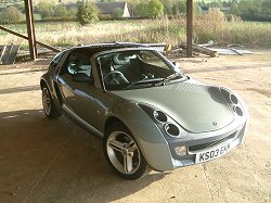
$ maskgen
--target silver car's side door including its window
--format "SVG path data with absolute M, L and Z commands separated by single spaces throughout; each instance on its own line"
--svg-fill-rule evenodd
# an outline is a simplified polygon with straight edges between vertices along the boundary
M 77 120 L 102 131 L 103 116 L 107 107 L 99 98 L 104 92 L 94 87 L 90 55 L 72 52 L 57 76 L 64 99 L 64 110 Z

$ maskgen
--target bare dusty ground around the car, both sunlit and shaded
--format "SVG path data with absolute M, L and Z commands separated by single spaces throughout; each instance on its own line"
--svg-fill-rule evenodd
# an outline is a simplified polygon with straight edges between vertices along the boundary
M 243 98 L 245 140 L 218 160 L 136 181 L 111 172 L 95 137 L 64 116 L 46 118 L 48 60 L 0 66 L 0 202 L 271 202 L 271 52 L 180 62 Z

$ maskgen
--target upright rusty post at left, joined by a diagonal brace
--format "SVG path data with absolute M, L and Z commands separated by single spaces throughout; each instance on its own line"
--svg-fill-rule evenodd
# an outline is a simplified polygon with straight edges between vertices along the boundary
M 27 25 L 27 35 L 29 43 L 30 59 L 37 59 L 37 46 L 35 36 L 34 14 L 33 14 L 33 2 L 31 0 L 25 0 L 25 16 Z

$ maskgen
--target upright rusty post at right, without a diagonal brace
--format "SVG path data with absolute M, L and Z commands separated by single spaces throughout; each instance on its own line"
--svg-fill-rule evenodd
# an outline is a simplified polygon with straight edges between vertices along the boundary
M 193 56 L 193 0 L 186 0 L 186 56 Z

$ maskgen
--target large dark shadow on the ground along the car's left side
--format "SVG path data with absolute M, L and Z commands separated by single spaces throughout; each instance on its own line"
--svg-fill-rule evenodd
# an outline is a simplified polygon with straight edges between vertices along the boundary
M 163 179 L 152 173 L 129 181 L 103 156 L 102 141 L 64 116 L 49 120 L 41 110 L 0 113 L 0 200 L 108 202 Z

